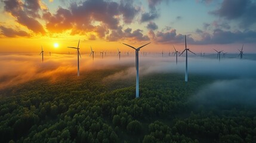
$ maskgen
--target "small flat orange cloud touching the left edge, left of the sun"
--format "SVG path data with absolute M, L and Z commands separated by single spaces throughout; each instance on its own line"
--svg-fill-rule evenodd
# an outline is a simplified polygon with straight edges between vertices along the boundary
M 0 29 L 2 31 L 2 35 L 10 37 L 10 38 L 14 38 L 17 36 L 21 36 L 21 37 L 30 37 L 31 35 L 23 30 L 14 30 L 11 28 L 7 28 L 4 26 L 0 26 Z

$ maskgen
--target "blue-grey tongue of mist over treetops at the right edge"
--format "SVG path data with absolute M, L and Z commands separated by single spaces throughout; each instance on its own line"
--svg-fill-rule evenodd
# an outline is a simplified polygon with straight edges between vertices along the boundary
M 204 105 L 251 105 L 255 107 L 256 79 L 217 80 L 203 86 L 192 101 Z

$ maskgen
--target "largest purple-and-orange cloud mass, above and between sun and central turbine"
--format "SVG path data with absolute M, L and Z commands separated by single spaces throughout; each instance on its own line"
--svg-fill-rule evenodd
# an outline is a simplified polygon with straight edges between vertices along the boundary
M 133 0 L 120 1 L 120 3 L 88 0 L 81 4 L 73 2 L 69 9 L 59 7 L 55 14 L 45 11 L 43 17 L 50 32 L 61 33 L 72 30 L 70 35 L 87 35 L 93 32 L 98 38 L 108 37 L 107 40 L 116 41 L 116 35 L 122 35 L 120 21 L 123 20 L 125 24 L 132 23 L 139 12 L 140 8 L 133 4 Z M 109 35 L 110 33 L 112 35 Z M 88 36 L 90 39 L 90 35 Z

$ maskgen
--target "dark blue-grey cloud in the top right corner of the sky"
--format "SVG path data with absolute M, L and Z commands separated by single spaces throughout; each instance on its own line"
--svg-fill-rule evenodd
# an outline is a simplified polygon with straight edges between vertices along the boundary
M 246 28 L 256 22 L 256 2 L 251 0 L 224 0 L 218 10 L 209 14 L 240 21 L 240 27 Z

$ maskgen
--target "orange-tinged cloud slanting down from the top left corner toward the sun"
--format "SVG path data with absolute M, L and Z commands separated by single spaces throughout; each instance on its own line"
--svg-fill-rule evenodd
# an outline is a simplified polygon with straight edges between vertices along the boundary
M 30 2 L 32 3 L 30 4 Z M 26 1 L 26 3 L 23 4 L 18 0 L 7 0 L 4 1 L 4 4 L 5 11 L 11 13 L 11 15 L 16 18 L 18 23 L 26 26 L 27 29 L 30 29 L 35 33 L 41 33 L 43 35 L 45 34 L 45 30 L 42 25 L 37 20 L 35 20 L 35 18 L 38 17 L 38 1 Z

